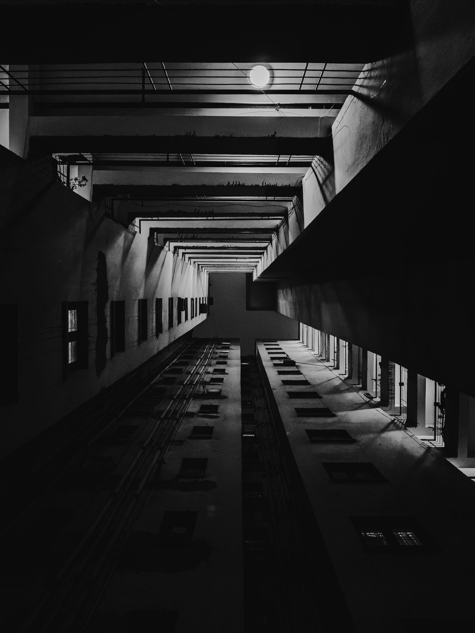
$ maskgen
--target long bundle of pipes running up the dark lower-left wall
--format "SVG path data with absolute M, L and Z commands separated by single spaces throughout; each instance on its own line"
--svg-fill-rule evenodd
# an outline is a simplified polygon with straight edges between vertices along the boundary
M 160 471 L 160 464 L 168 451 L 170 442 L 177 432 L 182 417 L 211 363 L 216 344 L 216 341 L 208 342 L 196 352 L 195 356 L 198 356 L 198 354 L 200 354 L 200 356 L 192 360 L 191 363 L 184 368 L 175 379 L 174 385 L 172 385 L 170 389 L 167 389 L 166 394 L 163 395 L 163 398 L 160 399 L 159 403 L 153 408 L 153 411 L 146 417 L 140 433 L 146 430 L 150 422 L 155 422 L 152 429 L 148 431 L 148 436 L 141 442 L 140 448 L 129 466 L 125 469 L 117 486 L 115 486 L 115 489 L 111 492 L 110 497 L 106 503 L 103 504 L 101 511 L 99 511 L 91 525 L 89 525 L 82 539 L 76 544 L 73 551 L 68 554 L 68 559 L 63 564 L 63 567 L 56 572 L 52 584 L 46 587 L 44 596 L 30 617 L 23 623 L 20 631 L 51 630 L 52 625 L 56 624 L 56 618 L 58 615 L 61 615 L 61 611 L 66 611 L 70 614 L 67 620 L 61 624 L 61 631 L 84 630 L 82 625 L 80 626 L 80 623 L 84 624 L 84 626 L 87 625 L 92 613 L 89 612 L 87 608 L 84 610 L 82 606 L 84 603 L 86 603 L 87 606 L 91 606 L 91 603 L 95 606 L 98 602 L 96 598 L 98 592 L 100 599 L 100 595 L 105 590 L 105 587 L 98 586 L 98 584 L 100 584 L 98 583 L 99 575 L 106 564 L 110 563 L 109 559 L 111 558 L 113 549 L 120 540 L 120 537 L 124 536 L 127 526 L 129 526 L 129 529 L 125 537 L 122 538 L 120 546 L 124 544 L 125 538 L 127 538 L 133 529 L 133 525 L 138 519 L 137 516 L 134 516 L 137 503 L 143 496 L 146 484 L 151 480 L 152 476 L 155 476 Z M 181 353 L 187 351 L 190 347 L 191 343 L 182 349 Z M 176 360 L 177 358 L 174 358 L 170 363 L 167 363 L 165 368 L 162 368 L 160 375 Z M 152 377 L 148 386 L 124 407 L 124 410 L 102 430 L 99 436 L 103 435 L 105 430 L 110 428 L 114 422 L 117 422 L 118 418 L 124 415 L 125 411 L 130 408 L 132 402 L 136 402 L 141 395 L 146 393 L 146 391 L 158 381 L 159 377 L 160 376 L 157 377 L 156 375 Z M 184 382 L 179 385 L 181 379 L 184 379 Z M 167 400 L 169 400 L 167 406 L 163 411 L 160 411 L 160 407 L 163 406 Z M 132 446 L 132 443 L 133 441 L 129 443 L 128 448 Z M 123 451 L 123 454 L 124 453 L 125 451 Z M 135 486 L 135 491 L 129 492 L 134 482 L 136 482 L 137 477 L 139 478 L 139 482 Z M 144 510 L 150 497 L 151 492 L 148 492 L 146 499 L 143 500 L 139 508 L 139 513 Z M 132 525 L 130 525 L 130 523 L 132 523 Z M 111 534 L 109 534 L 110 531 Z M 105 542 L 104 539 L 106 539 Z M 99 545 L 101 546 L 101 554 L 98 560 L 94 560 L 94 553 L 96 553 Z M 79 555 L 81 555 L 80 565 L 73 567 L 73 563 L 77 560 Z M 106 579 L 107 577 L 110 578 L 110 570 L 113 571 L 114 563 L 112 565 L 109 564 L 109 567 L 110 569 L 106 570 Z M 67 608 L 63 608 L 64 605 L 67 606 Z

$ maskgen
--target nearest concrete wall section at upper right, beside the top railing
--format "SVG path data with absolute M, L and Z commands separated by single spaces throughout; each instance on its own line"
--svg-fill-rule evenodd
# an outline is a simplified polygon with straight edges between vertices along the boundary
M 410 0 L 409 11 L 413 46 L 367 64 L 333 123 L 337 194 L 475 54 L 470 0 Z

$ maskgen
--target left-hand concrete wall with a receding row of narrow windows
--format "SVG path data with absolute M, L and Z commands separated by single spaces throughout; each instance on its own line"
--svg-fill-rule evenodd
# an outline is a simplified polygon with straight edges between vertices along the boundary
M 2 303 L 18 304 L 18 404 L 2 406 L 5 455 L 205 320 L 177 325 L 176 298 L 207 293 L 193 266 L 105 217 L 98 207 L 24 163 L 1 180 Z M 204 292 L 201 289 L 203 286 Z M 163 334 L 155 336 L 155 298 Z M 168 298 L 175 298 L 168 330 Z M 148 299 L 148 340 L 138 340 L 138 299 Z M 125 301 L 125 351 L 111 358 L 110 301 Z M 89 368 L 62 375 L 61 303 L 89 302 Z M 182 313 L 183 315 L 183 313 Z M 189 316 L 191 314 L 189 313 Z M 104 320 L 105 319 L 105 320 Z

